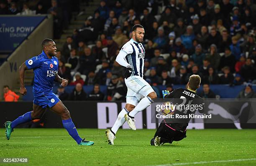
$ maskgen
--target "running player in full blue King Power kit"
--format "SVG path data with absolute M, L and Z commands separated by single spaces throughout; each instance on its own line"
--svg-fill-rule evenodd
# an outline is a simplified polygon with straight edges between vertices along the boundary
M 27 90 L 24 86 L 25 70 L 33 69 L 35 74 L 33 84 L 33 111 L 19 116 L 14 121 L 5 122 L 5 136 L 10 139 L 10 134 L 18 124 L 23 124 L 34 119 L 41 119 L 47 107 L 59 114 L 62 119 L 62 124 L 78 145 L 93 145 L 94 142 L 82 139 L 77 129 L 72 122 L 68 109 L 53 93 L 54 81 L 60 82 L 62 87 L 66 87 L 68 81 L 62 79 L 58 75 L 58 58 L 56 55 L 56 45 L 51 39 L 45 39 L 42 42 L 43 51 L 40 55 L 32 57 L 21 64 L 20 72 L 20 94 L 25 95 Z

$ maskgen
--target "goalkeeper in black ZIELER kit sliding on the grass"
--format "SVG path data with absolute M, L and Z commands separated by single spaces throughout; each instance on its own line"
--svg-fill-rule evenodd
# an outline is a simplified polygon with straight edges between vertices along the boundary
M 204 101 L 203 99 L 196 94 L 196 90 L 200 87 L 201 78 L 199 75 L 192 75 L 189 77 L 189 82 L 187 83 L 187 89 L 174 89 L 171 93 L 168 91 L 162 91 L 164 99 L 175 103 L 177 105 L 184 106 L 195 106 L 198 105 L 198 111 L 203 113 L 204 110 Z M 175 102 L 174 102 L 175 101 Z M 169 118 L 161 121 L 154 138 L 151 139 L 151 145 L 161 146 L 162 144 L 169 143 L 172 144 L 172 141 L 180 141 L 186 138 L 187 126 L 191 118 L 189 114 L 195 114 L 196 110 L 192 109 L 182 109 L 184 107 L 176 107 L 171 113 L 176 117 L 176 114 L 181 116 L 187 116 L 187 118 L 177 119 Z M 192 107 L 189 107 L 192 108 Z

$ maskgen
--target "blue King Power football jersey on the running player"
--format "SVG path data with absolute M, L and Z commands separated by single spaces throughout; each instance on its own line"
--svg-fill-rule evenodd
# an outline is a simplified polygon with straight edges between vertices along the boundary
M 53 93 L 53 83 L 55 74 L 58 73 L 59 61 L 57 57 L 49 59 L 47 55 L 42 53 L 36 57 L 26 60 L 28 69 L 33 69 L 35 74 L 33 84 L 34 97 Z

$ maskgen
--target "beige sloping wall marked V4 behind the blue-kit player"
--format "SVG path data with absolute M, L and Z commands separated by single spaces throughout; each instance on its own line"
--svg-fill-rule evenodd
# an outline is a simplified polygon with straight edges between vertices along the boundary
M 53 17 L 48 15 L 36 29 L 23 41 L 20 46 L 0 66 L 0 100 L 3 100 L 3 86 L 9 85 L 10 89 L 17 88 L 19 67 L 28 58 L 42 52 L 41 42 L 45 38 L 53 37 Z M 3 39 L 1 39 L 3 40 Z

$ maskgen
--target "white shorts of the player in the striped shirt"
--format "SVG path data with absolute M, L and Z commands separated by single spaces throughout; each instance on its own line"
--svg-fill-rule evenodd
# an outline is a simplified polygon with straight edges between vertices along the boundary
M 148 82 L 140 76 L 131 76 L 125 79 L 125 84 L 127 86 L 126 104 L 136 106 L 143 97 L 155 92 Z

